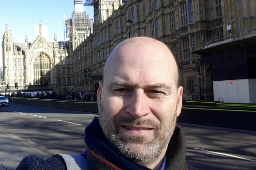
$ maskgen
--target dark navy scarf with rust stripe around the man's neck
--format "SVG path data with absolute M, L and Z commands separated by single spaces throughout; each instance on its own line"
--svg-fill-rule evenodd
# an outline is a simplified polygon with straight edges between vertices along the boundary
M 87 161 L 91 169 L 97 170 L 150 170 L 126 158 L 106 139 L 95 117 L 85 129 Z M 187 170 L 184 135 L 176 126 L 166 153 L 166 170 Z

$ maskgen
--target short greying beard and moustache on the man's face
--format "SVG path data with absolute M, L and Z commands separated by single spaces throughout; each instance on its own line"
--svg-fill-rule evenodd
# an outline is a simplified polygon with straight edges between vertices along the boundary
M 101 100 L 102 101 L 102 100 Z M 159 122 L 151 119 L 136 119 L 120 115 L 111 118 L 103 104 L 99 103 L 99 121 L 105 137 L 120 151 L 121 154 L 141 165 L 147 165 L 155 160 L 168 145 L 176 125 L 176 112 L 168 125 L 161 126 Z M 119 133 L 121 123 L 131 125 L 150 125 L 154 128 L 154 139 L 147 141 L 146 137 L 134 137 L 129 134 Z M 126 137 L 124 140 L 123 137 Z M 136 146 L 134 146 L 136 144 Z

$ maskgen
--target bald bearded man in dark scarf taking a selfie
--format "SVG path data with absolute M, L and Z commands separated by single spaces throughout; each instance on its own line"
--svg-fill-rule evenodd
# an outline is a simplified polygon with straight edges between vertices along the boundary
M 176 125 L 183 91 L 178 77 L 165 44 L 148 37 L 125 40 L 105 64 L 98 117 L 86 127 L 84 154 L 57 154 L 46 161 L 27 156 L 17 170 L 38 160 L 43 168 L 60 170 L 194 169 L 186 163 L 184 135 Z

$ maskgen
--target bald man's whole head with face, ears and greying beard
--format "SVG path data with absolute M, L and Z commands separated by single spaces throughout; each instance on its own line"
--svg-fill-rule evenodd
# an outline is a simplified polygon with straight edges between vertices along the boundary
M 155 168 L 165 155 L 182 107 L 182 87 L 171 51 L 157 40 L 136 37 L 110 54 L 99 83 L 99 121 L 125 156 Z

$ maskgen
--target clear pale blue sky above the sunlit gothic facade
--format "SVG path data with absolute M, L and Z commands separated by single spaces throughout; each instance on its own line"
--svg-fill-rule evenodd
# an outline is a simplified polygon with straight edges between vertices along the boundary
M 93 17 L 93 7 L 84 9 Z M 15 42 L 24 42 L 26 34 L 29 42 L 33 42 L 35 25 L 38 26 L 40 20 L 43 26 L 48 26 L 49 41 L 53 41 L 55 33 L 57 40 L 63 41 L 63 15 L 70 18 L 73 11 L 74 0 L 0 0 L 0 44 L 6 21 Z

